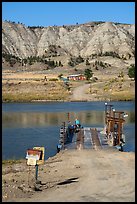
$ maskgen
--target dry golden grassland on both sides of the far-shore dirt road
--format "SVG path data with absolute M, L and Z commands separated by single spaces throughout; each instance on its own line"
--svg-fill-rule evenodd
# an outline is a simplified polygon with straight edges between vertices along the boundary
M 33 100 L 69 100 L 70 93 L 63 81 L 59 81 L 58 74 L 39 74 L 38 72 L 12 72 L 2 73 L 2 101 L 31 102 Z M 45 76 L 47 81 L 45 80 Z M 57 81 L 50 81 L 56 79 Z M 71 92 L 85 81 L 70 83 Z M 97 82 L 91 83 L 91 90 L 86 91 L 97 100 L 134 100 L 135 82 L 128 78 L 122 81 L 114 75 L 106 75 Z

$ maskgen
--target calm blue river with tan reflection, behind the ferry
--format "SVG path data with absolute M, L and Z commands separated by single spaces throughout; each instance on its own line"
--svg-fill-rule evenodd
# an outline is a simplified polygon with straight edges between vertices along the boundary
M 105 102 L 34 102 L 2 104 L 2 159 L 23 159 L 26 150 L 45 147 L 45 160 L 56 154 L 62 122 L 75 118 L 84 127 L 104 127 Z M 110 102 L 128 114 L 124 151 L 135 151 L 135 102 Z

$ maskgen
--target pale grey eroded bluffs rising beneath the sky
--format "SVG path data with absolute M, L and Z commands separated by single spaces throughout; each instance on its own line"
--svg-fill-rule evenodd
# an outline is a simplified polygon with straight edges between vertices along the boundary
M 135 25 L 113 22 L 89 22 L 62 26 L 25 26 L 2 23 L 2 53 L 29 56 L 107 56 L 134 58 Z

